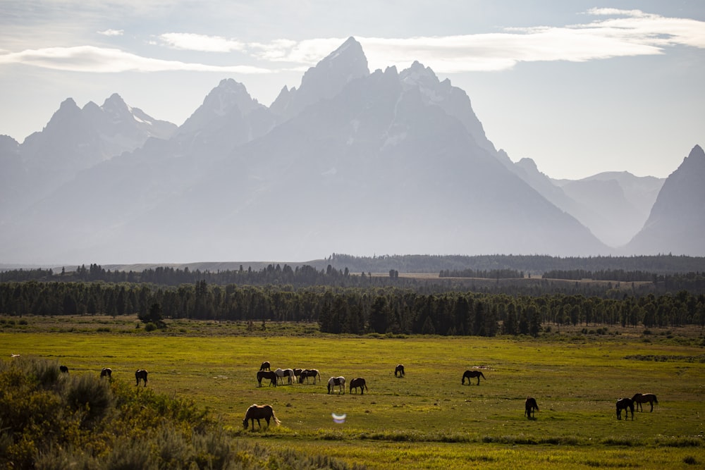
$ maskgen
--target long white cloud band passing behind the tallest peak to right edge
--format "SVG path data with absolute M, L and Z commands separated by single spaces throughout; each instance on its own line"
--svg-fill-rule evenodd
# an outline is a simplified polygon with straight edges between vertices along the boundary
M 502 32 L 446 37 L 357 37 L 372 70 L 413 61 L 439 73 L 505 70 L 520 62 L 584 62 L 622 56 L 664 54 L 667 47 L 705 48 L 705 22 L 666 18 L 639 10 L 592 8 L 594 22 L 563 27 L 505 28 Z M 616 18 L 604 18 L 606 16 Z M 266 61 L 312 65 L 346 38 L 278 40 L 249 44 Z

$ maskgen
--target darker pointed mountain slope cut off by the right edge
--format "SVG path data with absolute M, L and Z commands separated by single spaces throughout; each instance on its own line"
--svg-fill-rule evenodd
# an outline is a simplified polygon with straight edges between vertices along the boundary
M 705 254 L 705 152 L 696 145 L 658 193 L 644 228 L 626 245 L 639 254 Z

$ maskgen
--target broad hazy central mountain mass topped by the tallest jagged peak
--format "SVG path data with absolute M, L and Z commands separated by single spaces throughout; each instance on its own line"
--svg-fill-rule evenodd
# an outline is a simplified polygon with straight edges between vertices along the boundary
M 266 109 L 223 80 L 171 139 L 94 165 L 23 212 L 0 256 L 608 252 L 508 171 L 465 92 L 419 63 L 370 74 L 350 38 L 286 100 Z

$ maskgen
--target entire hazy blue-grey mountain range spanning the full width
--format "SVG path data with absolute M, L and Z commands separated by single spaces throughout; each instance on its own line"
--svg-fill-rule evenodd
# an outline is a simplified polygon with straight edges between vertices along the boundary
M 695 146 L 665 180 L 553 180 L 497 150 L 462 89 L 417 62 L 370 72 L 350 37 L 269 107 L 225 79 L 178 127 L 114 94 L 0 136 L 0 260 L 701 256 L 704 176 Z

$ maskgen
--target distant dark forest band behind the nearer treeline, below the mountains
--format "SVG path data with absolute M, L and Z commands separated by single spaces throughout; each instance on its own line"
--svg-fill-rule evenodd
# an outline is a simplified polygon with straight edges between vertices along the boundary
M 467 258 L 467 256 L 465 256 Z M 675 259 L 680 259 L 674 257 Z M 685 258 L 692 260 L 691 258 Z M 55 273 L 51 269 L 30 269 L 0 271 L 0 283 L 37 280 L 41 282 L 95 282 L 106 283 L 151 283 L 154 285 L 178 286 L 181 284 L 195 284 L 200 280 L 208 284 L 217 285 L 288 285 L 294 288 L 312 285 L 329 285 L 335 287 L 403 287 L 422 292 L 447 292 L 450 290 L 481 290 L 483 292 L 503 292 L 515 295 L 543 295 L 548 293 L 582 294 L 582 295 L 610 295 L 613 285 L 594 285 L 589 283 L 565 283 L 568 280 L 606 280 L 611 283 L 639 282 L 640 285 L 632 286 L 636 295 L 649 293 L 676 293 L 679 290 L 688 290 L 694 293 L 705 293 L 705 271 L 692 271 L 684 273 L 656 274 L 650 271 L 626 271 L 623 269 L 610 269 L 589 271 L 581 268 L 567 270 L 547 271 L 543 276 L 528 275 L 525 271 L 512 268 L 494 268 L 490 270 L 479 269 L 444 269 L 438 271 L 437 278 L 414 278 L 399 276 L 398 269 L 384 269 L 374 271 L 388 273 L 388 276 L 372 276 L 369 271 L 353 272 L 347 267 L 335 268 L 328 264 L 326 269 L 317 269 L 313 266 L 289 266 L 284 264 L 269 264 L 259 270 L 250 266 L 245 269 L 243 265 L 237 270 L 200 271 L 169 266 L 159 266 L 145 269 L 144 271 L 110 271 L 98 264 L 91 264 L 89 268 L 78 266 L 75 271 L 62 269 Z M 408 272 L 408 271 L 407 271 Z M 418 271 L 417 271 L 418 272 Z M 474 284 L 474 280 L 507 280 L 508 283 L 491 285 L 488 283 Z M 559 282 L 554 282 L 558 280 Z

